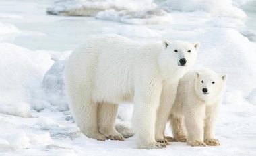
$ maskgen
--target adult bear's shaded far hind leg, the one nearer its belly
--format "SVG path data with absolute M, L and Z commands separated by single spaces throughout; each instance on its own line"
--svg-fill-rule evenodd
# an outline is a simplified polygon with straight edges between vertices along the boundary
M 118 104 L 100 103 L 98 105 L 98 131 L 108 139 L 124 141 L 123 135 L 115 129 L 117 108 Z

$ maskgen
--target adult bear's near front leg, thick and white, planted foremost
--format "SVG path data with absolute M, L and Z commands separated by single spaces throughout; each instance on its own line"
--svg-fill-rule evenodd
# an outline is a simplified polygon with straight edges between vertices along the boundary
M 155 140 L 156 113 L 161 91 L 162 84 L 158 80 L 141 81 L 135 88 L 133 129 L 139 149 L 166 147 Z

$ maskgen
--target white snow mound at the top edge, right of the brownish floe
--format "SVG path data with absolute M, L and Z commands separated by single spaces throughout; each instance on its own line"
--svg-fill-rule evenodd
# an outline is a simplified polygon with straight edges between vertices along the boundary
M 247 17 L 245 12 L 232 4 L 232 0 L 168 0 L 160 5 L 162 9 L 177 11 L 205 11 L 217 17 Z

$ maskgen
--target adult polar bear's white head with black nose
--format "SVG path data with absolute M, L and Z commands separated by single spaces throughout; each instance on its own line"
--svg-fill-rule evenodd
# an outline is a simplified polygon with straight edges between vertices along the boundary
M 172 66 L 179 68 L 191 67 L 197 59 L 197 52 L 200 47 L 199 42 L 191 44 L 185 41 L 164 40 L 164 53 Z

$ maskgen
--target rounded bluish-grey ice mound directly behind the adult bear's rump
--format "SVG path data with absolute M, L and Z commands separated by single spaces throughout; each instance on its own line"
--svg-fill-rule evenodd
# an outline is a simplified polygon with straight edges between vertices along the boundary
M 42 80 L 42 88 L 44 89 L 46 100 L 60 111 L 69 110 L 63 80 L 64 68 L 65 60 L 55 62 Z

